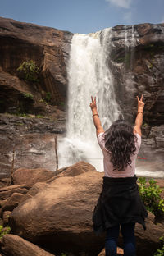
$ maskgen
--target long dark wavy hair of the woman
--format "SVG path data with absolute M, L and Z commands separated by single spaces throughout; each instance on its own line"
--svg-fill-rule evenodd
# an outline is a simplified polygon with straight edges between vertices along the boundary
M 116 120 L 105 132 L 105 147 L 111 153 L 113 170 L 123 171 L 131 164 L 130 156 L 134 154 L 136 136 L 133 128 L 124 120 Z

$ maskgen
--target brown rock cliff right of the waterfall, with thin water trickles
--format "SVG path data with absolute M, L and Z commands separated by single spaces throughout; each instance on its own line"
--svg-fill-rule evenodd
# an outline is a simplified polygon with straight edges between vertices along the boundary
M 148 158 L 145 168 L 149 164 L 153 170 L 163 171 L 164 24 L 117 25 L 112 28 L 109 47 L 107 64 L 112 68 L 116 100 L 131 123 L 136 117 L 135 97 L 144 94 L 143 143 L 139 156 Z

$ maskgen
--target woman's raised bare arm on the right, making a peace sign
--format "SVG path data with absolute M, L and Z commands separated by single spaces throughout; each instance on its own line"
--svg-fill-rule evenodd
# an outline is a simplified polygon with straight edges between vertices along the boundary
M 134 133 L 138 133 L 141 136 L 142 135 L 141 126 L 143 123 L 143 112 L 144 112 L 143 94 L 140 100 L 139 100 L 139 97 L 137 96 L 137 100 L 138 100 L 138 111 L 137 111 L 137 117 L 135 119 Z

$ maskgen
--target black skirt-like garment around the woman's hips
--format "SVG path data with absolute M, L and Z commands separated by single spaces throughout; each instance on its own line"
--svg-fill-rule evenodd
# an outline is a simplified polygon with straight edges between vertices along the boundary
M 137 177 L 103 177 L 103 190 L 93 211 L 93 230 L 97 235 L 122 223 L 138 222 L 146 229 L 148 212 L 139 196 Z

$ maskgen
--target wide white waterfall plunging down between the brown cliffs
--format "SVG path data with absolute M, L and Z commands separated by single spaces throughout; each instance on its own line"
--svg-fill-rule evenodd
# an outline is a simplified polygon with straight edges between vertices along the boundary
M 103 153 L 98 146 L 89 103 L 91 96 L 97 97 L 98 114 L 104 130 L 119 117 L 113 75 L 107 66 L 111 43 L 112 29 L 73 36 L 67 67 L 67 131 L 66 138 L 59 142 L 59 167 L 83 160 L 103 171 Z

